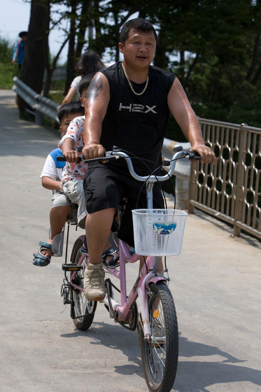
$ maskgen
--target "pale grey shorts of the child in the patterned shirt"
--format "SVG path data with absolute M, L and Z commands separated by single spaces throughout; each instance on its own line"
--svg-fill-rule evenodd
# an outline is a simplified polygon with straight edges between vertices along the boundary
M 72 203 L 78 204 L 77 221 L 81 229 L 85 229 L 85 216 L 87 215 L 83 180 L 70 180 L 63 185 L 63 193 Z

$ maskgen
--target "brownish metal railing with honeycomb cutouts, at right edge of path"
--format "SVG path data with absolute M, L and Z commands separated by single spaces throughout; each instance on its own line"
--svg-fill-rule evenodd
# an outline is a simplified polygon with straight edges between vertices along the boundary
M 261 129 L 199 118 L 216 165 L 191 166 L 189 212 L 194 207 L 261 239 Z

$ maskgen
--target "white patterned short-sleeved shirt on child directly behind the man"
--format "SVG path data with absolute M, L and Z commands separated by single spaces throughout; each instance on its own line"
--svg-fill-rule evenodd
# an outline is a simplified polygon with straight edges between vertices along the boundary
M 67 133 L 63 136 L 62 140 L 58 144 L 58 147 L 62 148 L 63 142 L 65 139 L 72 139 L 75 142 L 74 150 L 78 152 L 80 156 L 82 156 L 82 149 L 84 147 L 83 142 L 83 123 L 85 116 L 76 117 L 71 122 L 67 129 Z M 88 167 L 88 163 L 79 162 L 79 163 L 69 163 L 66 162 L 65 170 L 63 171 L 62 176 L 62 187 L 67 181 L 72 180 L 82 180 L 83 175 L 86 172 Z

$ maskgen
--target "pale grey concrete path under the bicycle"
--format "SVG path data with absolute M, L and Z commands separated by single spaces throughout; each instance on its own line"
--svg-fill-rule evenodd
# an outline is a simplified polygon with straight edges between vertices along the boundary
M 0 118 L 1 390 L 147 391 L 137 332 L 101 304 L 89 330 L 75 329 L 60 297 L 63 258 L 46 268 L 31 262 L 48 235 L 51 191 L 39 176 L 58 132 L 19 120 L 11 91 L 0 91 Z M 173 391 L 261 391 L 260 256 L 257 241 L 233 238 L 205 214 L 188 216 L 183 252 L 168 261 L 180 331 Z M 127 266 L 129 290 L 137 267 Z

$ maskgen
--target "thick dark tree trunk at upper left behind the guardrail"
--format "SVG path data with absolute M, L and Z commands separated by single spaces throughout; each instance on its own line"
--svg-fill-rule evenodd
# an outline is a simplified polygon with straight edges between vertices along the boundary
M 49 0 L 32 0 L 21 80 L 41 93 L 50 22 Z

